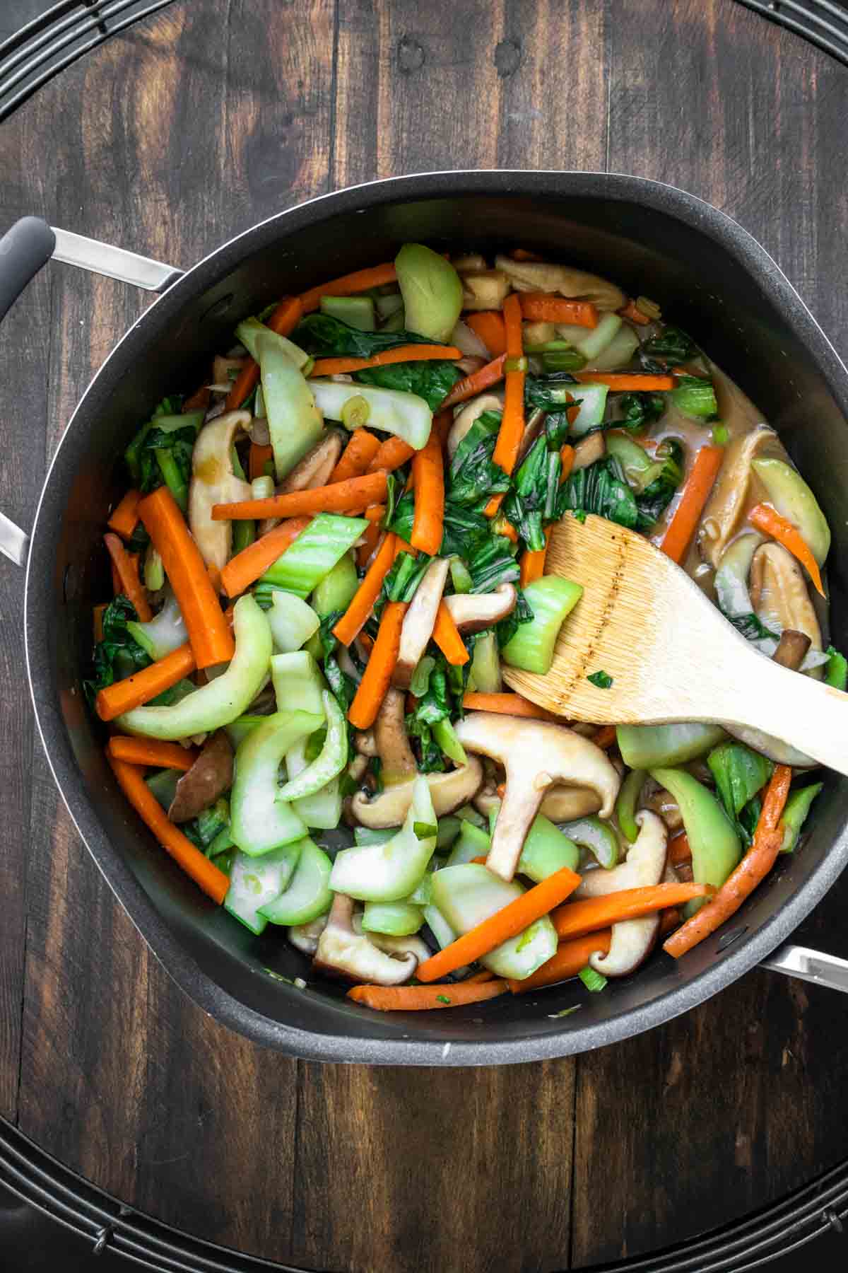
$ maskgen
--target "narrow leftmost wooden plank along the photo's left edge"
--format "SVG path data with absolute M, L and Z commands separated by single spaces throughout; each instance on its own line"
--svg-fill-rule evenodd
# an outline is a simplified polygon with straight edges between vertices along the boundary
M 39 173 L 20 155 L 37 144 L 32 118 L 15 116 L 0 130 L 0 233 L 20 216 L 48 215 Z M 44 466 L 51 278 L 42 271 L 0 327 L 0 448 L 3 510 L 29 530 Z M 24 673 L 24 573 L 0 560 L 0 729 L 11 746 L 0 764 L 0 1114 L 17 1118 L 20 1069 L 20 1015 L 25 950 L 27 835 L 33 721 Z

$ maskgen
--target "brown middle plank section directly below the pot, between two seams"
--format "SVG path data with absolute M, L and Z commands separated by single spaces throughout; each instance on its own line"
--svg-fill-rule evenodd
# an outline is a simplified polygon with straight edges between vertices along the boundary
M 304 1064 L 291 1260 L 392 1273 L 563 1268 L 572 1076 L 567 1060 Z

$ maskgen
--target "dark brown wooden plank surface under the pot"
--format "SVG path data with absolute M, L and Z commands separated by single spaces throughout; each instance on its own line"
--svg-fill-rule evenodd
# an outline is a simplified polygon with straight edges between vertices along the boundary
M 0 130 L 24 213 L 189 265 L 311 195 L 451 167 L 683 186 L 774 255 L 848 354 L 848 71 L 734 0 L 195 0 Z M 50 266 L 0 330 L 3 507 L 33 517 L 142 295 Z M 133 1207 L 333 1270 L 543 1270 L 666 1246 L 848 1152 L 848 1001 L 753 973 L 595 1054 L 479 1071 L 286 1060 L 170 983 L 33 737 L 0 563 L 0 1115 Z M 801 937 L 848 955 L 848 882 Z

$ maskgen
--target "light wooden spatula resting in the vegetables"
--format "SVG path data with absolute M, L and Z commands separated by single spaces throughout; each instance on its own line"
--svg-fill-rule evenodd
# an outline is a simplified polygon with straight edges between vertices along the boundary
M 572 721 L 754 727 L 848 774 L 848 694 L 755 651 L 680 566 L 601 517 L 553 528 L 548 574 L 582 584 L 547 676 L 505 667 L 514 690 Z M 587 677 L 606 672 L 609 689 Z

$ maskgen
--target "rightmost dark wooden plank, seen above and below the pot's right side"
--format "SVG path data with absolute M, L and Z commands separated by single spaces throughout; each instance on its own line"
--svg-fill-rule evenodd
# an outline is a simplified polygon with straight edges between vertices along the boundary
M 844 177 L 826 158 L 844 131 L 844 70 L 731 0 L 681 0 L 659 32 L 626 0 L 612 59 L 610 169 L 671 181 L 741 220 L 844 350 L 845 297 L 833 286 Z M 842 882 L 798 939 L 834 950 L 845 899 Z M 651 1035 L 580 1058 L 575 1267 L 727 1223 L 839 1161 L 847 1020 L 840 997 L 754 973 Z

